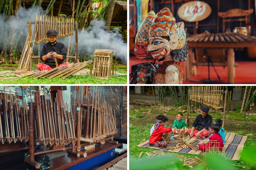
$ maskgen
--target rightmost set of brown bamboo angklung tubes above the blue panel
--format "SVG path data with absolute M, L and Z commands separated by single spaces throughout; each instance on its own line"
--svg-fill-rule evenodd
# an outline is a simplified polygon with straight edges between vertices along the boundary
M 99 95 L 97 87 L 93 87 L 92 93 L 88 86 L 82 87 L 82 91 L 84 91 L 84 95 L 80 99 L 79 93 L 78 99 L 81 100 L 80 112 L 84 118 L 81 119 L 81 132 L 83 132 L 81 141 L 97 143 L 104 141 L 107 136 L 117 133 L 115 113 L 113 114 L 112 107 L 107 103 L 105 97 Z

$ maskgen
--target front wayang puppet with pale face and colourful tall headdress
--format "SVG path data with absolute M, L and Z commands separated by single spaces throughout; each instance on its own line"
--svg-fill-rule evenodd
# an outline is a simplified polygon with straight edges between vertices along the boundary
M 163 8 L 149 28 L 148 41 L 147 51 L 151 57 L 163 61 L 154 74 L 153 84 L 182 84 L 179 61 L 185 61 L 188 56 L 184 23 L 176 23 L 169 8 Z

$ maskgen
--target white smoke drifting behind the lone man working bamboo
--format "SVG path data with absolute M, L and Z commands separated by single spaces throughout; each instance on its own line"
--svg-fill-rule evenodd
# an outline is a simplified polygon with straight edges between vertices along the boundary
M 22 53 L 23 47 L 28 36 L 28 21 L 35 21 L 35 16 L 44 14 L 45 11 L 38 6 L 33 6 L 31 8 L 19 7 L 16 16 L 11 16 L 9 20 L 3 19 L 3 14 L 0 14 L 0 50 L 3 50 L 4 44 L 7 42 L 8 51 L 13 48 L 17 42 L 18 37 L 18 49 L 19 53 Z M 32 24 L 32 31 L 35 25 Z M 79 57 L 86 57 L 89 59 L 95 49 L 113 49 L 117 52 L 117 57 L 122 60 L 123 63 L 127 63 L 127 43 L 122 40 L 122 34 L 119 33 L 119 28 L 115 28 L 113 31 L 107 32 L 104 30 L 105 22 L 102 20 L 91 21 L 91 26 L 83 31 L 78 30 L 78 45 L 79 45 Z M 75 31 L 75 30 L 74 30 Z M 34 36 L 32 34 L 32 40 Z M 1 42 L 2 41 L 2 42 Z M 63 42 L 66 48 L 68 48 L 69 37 L 63 37 L 57 40 Z M 73 46 L 73 53 L 70 51 L 70 55 L 75 55 L 76 50 L 76 39 L 75 32 L 71 36 L 71 45 Z M 38 47 L 40 46 L 40 51 L 44 45 L 40 43 L 39 45 L 34 45 L 34 54 L 38 55 Z M 115 54 L 115 53 L 114 53 Z

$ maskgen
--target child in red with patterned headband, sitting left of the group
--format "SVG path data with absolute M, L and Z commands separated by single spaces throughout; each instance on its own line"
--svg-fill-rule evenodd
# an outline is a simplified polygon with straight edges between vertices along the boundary
M 150 136 L 149 145 L 153 147 L 166 147 L 166 141 L 161 141 L 163 133 L 169 133 L 172 131 L 171 127 L 163 127 L 168 118 L 164 115 L 158 115 L 154 131 Z

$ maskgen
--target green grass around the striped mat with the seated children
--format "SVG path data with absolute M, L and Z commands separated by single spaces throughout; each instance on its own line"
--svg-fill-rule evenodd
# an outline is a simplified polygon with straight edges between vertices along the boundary
M 169 120 L 169 122 L 172 122 L 173 120 Z M 151 122 L 151 123 L 147 123 Z M 142 147 L 137 147 L 137 144 L 140 144 L 141 142 L 144 142 L 145 140 L 148 140 L 150 137 L 150 129 L 153 125 L 154 119 L 149 118 L 149 117 L 143 117 L 143 118 L 137 118 L 134 116 L 130 116 L 130 121 L 129 121 L 129 153 L 130 153 L 130 158 L 134 158 L 137 163 L 140 164 L 140 159 L 148 159 L 148 156 L 146 152 L 152 152 L 155 151 L 155 149 L 150 149 L 150 148 L 142 148 Z M 225 124 L 226 125 L 226 124 Z M 231 130 L 232 126 L 233 130 Z M 242 127 L 242 128 L 241 128 Z M 230 130 L 229 130 L 230 129 Z M 227 123 L 227 128 L 225 128 L 227 132 L 234 132 L 238 133 L 241 135 L 247 135 L 247 140 L 244 144 L 244 150 L 248 147 L 256 147 L 256 125 L 236 125 L 233 123 Z M 164 151 L 165 152 L 165 151 Z M 140 153 L 142 153 L 141 157 L 139 158 Z M 172 153 L 172 152 L 165 152 L 165 153 Z M 176 154 L 176 153 L 175 153 Z M 194 155 L 190 154 L 184 154 L 184 153 L 177 153 L 178 155 L 183 155 L 186 156 L 187 158 L 193 157 Z M 254 154 L 255 155 L 255 154 Z M 202 159 L 202 155 L 196 155 L 198 158 Z M 254 156 L 255 158 L 255 156 Z M 131 159 L 130 159 L 131 160 Z M 149 159 L 148 159 L 149 160 Z M 145 160 L 144 160 L 145 161 Z M 130 161 L 131 162 L 131 161 Z M 253 168 L 253 164 L 247 163 L 246 161 L 229 161 L 230 164 L 233 164 L 233 168 L 235 170 L 250 170 Z M 236 165 L 236 166 L 234 166 Z M 238 167 L 240 166 L 240 167 Z M 157 166 L 156 166 L 157 167 Z M 199 166 L 198 166 L 199 167 Z M 244 167 L 244 168 L 243 168 Z M 159 170 L 165 170 L 167 168 L 157 168 Z M 191 168 L 189 166 L 182 166 L 180 170 L 190 170 Z

